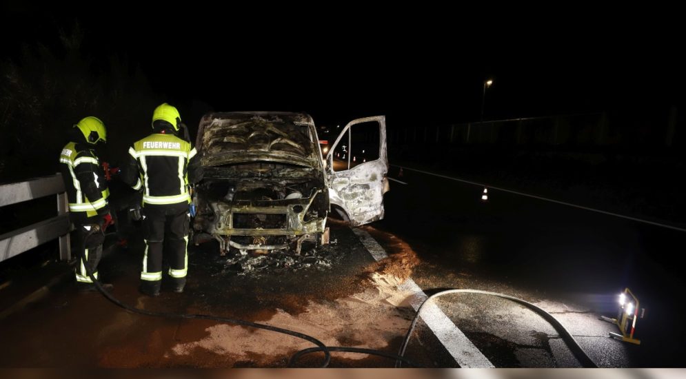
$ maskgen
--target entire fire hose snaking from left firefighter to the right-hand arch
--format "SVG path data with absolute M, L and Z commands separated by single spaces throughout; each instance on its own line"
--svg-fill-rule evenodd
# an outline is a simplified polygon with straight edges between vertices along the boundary
M 93 236 L 95 233 L 101 233 L 104 236 L 103 230 L 101 229 L 100 225 L 94 224 L 91 225 L 90 231 L 84 236 L 83 238 L 83 248 L 85 249 L 86 243 L 88 241 L 88 238 Z M 396 361 L 396 367 L 401 367 L 401 363 L 405 362 L 408 365 L 412 365 L 414 367 L 421 367 L 420 365 L 416 365 L 416 363 L 412 362 L 412 360 L 408 360 L 407 358 L 404 357 L 405 355 L 405 348 L 407 347 L 408 342 L 410 341 L 410 336 L 412 336 L 412 332 L 414 331 L 414 327 L 416 326 L 416 323 L 419 319 L 419 316 L 421 314 L 421 311 L 424 307 L 424 305 L 429 301 L 432 300 L 433 298 L 436 298 L 438 296 L 442 296 L 445 294 L 484 294 L 484 295 L 489 295 L 489 296 L 497 296 L 500 298 L 505 298 L 508 300 L 512 300 L 516 303 L 525 305 L 526 307 L 529 307 L 530 309 L 534 310 L 537 314 L 543 316 L 545 320 L 547 320 L 555 329 L 557 329 L 560 332 L 560 335 L 562 336 L 563 340 L 567 342 L 567 345 L 569 345 L 570 349 L 572 350 L 572 353 L 574 356 L 581 362 L 581 365 L 583 367 L 598 367 L 591 358 L 585 353 L 585 351 L 581 348 L 580 345 L 578 345 L 578 342 L 574 339 L 572 334 L 563 327 L 563 325 L 556 319 L 554 316 L 551 314 L 547 313 L 543 309 L 536 307 L 536 305 L 533 305 L 532 303 L 528 303 L 525 300 L 521 300 L 519 298 L 514 298 L 512 296 L 508 296 L 505 294 L 498 294 L 496 292 L 488 292 L 488 291 L 481 291 L 478 289 L 447 289 L 445 291 L 440 291 L 436 294 L 433 294 L 424 302 L 420 305 L 420 307 L 417 309 L 417 312 L 414 316 L 414 319 L 412 320 L 412 324 L 410 325 L 410 328 L 407 330 L 407 334 L 405 335 L 405 339 L 403 340 L 403 344 L 401 345 L 401 348 L 399 350 L 399 354 L 392 354 L 388 353 L 386 351 L 379 351 L 375 349 L 363 349 L 363 348 L 358 348 L 358 347 L 341 347 L 341 346 L 326 346 L 324 345 L 323 342 L 320 340 L 308 336 L 307 334 L 299 333 L 297 331 L 292 331 L 288 329 L 283 329 L 280 327 L 272 327 L 271 325 L 265 325 L 265 324 L 259 324 L 257 322 L 250 322 L 247 320 L 238 320 L 234 318 L 226 318 L 226 317 L 219 317 L 219 316 L 211 316 L 211 315 L 205 315 L 205 314 L 172 314 L 172 313 L 165 313 L 165 312 L 154 312 L 154 311 L 148 311 L 145 309 L 139 309 L 137 307 L 132 307 L 130 305 L 121 303 L 121 301 L 117 300 L 112 294 L 110 294 L 108 291 L 105 291 L 103 289 L 102 285 L 99 283 L 97 278 L 93 276 L 92 270 L 90 267 L 85 262 L 85 259 L 83 256 L 81 256 L 81 260 L 83 262 L 83 266 L 85 267 L 85 270 L 88 274 L 88 277 L 90 280 L 92 280 L 93 284 L 95 287 L 98 289 L 98 291 L 105 296 L 110 302 L 114 303 L 114 305 L 117 305 L 123 309 L 126 309 L 134 314 L 142 314 L 144 316 L 152 316 L 152 317 L 163 317 L 163 318 L 178 318 L 178 319 L 199 319 L 199 320 L 214 320 L 214 321 L 219 321 L 219 322 L 225 322 L 225 323 L 230 323 L 230 324 L 236 324 L 236 325 L 243 325 L 245 327 L 254 327 L 258 329 L 265 329 L 269 331 L 275 331 L 276 333 L 281 333 L 281 334 L 286 334 L 288 336 L 293 336 L 296 338 L 301 338 L 303 340 L 306 340 L 308 342 L 312 342 L 314 345 L 317 347 L 312 347 L 308 349 L 303 349 L 300 351 L 297 351 L 295 354 L 293 354 L 288 362 L 288 365 L 290 367 L 295 367 L 296 362 L 302 357 L 305 356 L 306 354 L 311 354 L 314 352 L 323 352 L 324 354 L 324 360 L 321 363 L 319 367 L 325 368 L 329 365 L 331 361 L 331 351 L 342 351 L 342 352 L 347 352 L 347 353 L 357 353 L 357 354 L 370 354 L 374 356 L 381 356 L 384 358 L 390 358 Z

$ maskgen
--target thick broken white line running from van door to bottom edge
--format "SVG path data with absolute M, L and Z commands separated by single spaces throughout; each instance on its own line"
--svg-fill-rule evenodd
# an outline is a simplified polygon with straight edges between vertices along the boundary
M 362 229 L 352 229 L 360 239 L 362 245 L 367 249 L 375 260 L 381 260 L 388 255 L 379 243 L 374 240 L 369 233 Z M 414 283 L 412 278 L 407 278 L 405 282 L 399 287 L 403 291 L 409 291 L 414 294 L 410 299 L 410 305 L 416 311 L 421 303 L 429 296 L 422 291 L 422 289 Z M 430 303 L 422 309 L 421 318 L 426 322 L 426 325 L 434 332 L 438 340 L 443 344 L 443 347 L 450 353 L 460 367 L 464 368 L 493 368 L 494 365 L 488 358 L 486 358 L 479 349 L 474 346 L 465 334 L 456 327 L 454 322 L 450 320 L 443 311 L 435 303 Z

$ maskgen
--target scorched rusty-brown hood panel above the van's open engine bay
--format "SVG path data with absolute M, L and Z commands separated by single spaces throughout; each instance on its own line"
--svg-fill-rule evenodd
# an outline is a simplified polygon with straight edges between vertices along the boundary
M 313 146 L 314 123 L 305 114 L 231 112 L 205 116 L 198 145 L 201 165 L 211 167 L 244 162 L 281 162 L 320 167 Z

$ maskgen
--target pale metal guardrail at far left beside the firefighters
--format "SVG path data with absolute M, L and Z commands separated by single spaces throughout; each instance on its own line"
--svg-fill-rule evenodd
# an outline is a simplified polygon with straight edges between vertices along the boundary
M 0 207 L 57 195 L 57 216 L 0 235 L 0 262 L 54 238 L 59 238 L 59 258 L 70 260 L 68 199 L 61 174 L 0 185 Z

